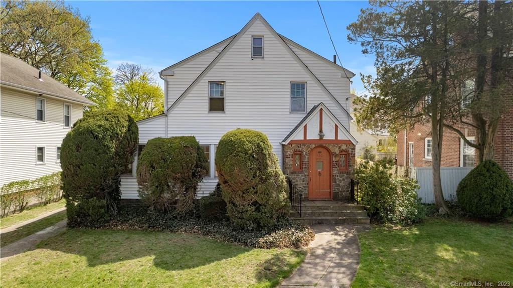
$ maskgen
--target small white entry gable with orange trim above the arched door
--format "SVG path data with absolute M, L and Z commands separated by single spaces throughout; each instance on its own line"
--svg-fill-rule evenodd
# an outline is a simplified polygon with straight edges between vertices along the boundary
M 319 129 L 323 130 L 323 118 L 328 117 L 334 123 L 334 137 L 333 139 L 307 139 L 307 130 L 310 129 L 308 123 L 319 114 Z M 339 128 L 346 139 L 339 139 Z M 302 136 L 301 136 L 302 133 Z M 306 116 L 296 125 L 288 135 L 283 139 L 283 145 L 286 144 L 358 144 L 351 133 L 340 121 L 331 113 L 331 111 L 324 105 L 319 103 L 310 109 Z

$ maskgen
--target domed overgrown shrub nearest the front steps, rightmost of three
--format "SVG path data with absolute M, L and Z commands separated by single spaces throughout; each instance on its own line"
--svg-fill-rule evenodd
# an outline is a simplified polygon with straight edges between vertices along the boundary
M 264 133 L 227 132 L 215 152 L 215 166 L 228 217 L 236 227 L 272 226 L 288 212 L 285 176 Z

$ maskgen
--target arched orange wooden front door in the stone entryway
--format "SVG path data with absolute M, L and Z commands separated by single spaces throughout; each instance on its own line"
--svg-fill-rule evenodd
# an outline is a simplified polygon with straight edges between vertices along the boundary
M 308 199 L 331 200 L 331 152 L 315 147 L 308 160 Z

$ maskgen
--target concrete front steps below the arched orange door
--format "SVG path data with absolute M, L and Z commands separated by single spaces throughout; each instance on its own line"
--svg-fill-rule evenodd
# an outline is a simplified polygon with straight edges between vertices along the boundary
M 290 216 L 307 225 L 369 224 L 370 222 L 362 205 L 341 201 L 304 200 L 301 217 L 295 210 L 291 211 Z

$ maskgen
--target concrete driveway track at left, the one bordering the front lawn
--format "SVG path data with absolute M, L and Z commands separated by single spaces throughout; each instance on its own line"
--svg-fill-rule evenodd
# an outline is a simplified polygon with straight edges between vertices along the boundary
M 30 236 L 27 236 L 21 240 L 18 240 L 14 243 L 11 243 L 0 249 L 0 261 L 4 261 L 14 255 L 18 255 L 23 253 L 29 249 L 32 249 L 39 242 L 46 240 L 52 236 L 59 234 L 61 231 L 66 229 L 66 221 L 62 220 L 57 222 L 57 224 L 50 226 L 41 230 L 40 232 L 36 232 Z

